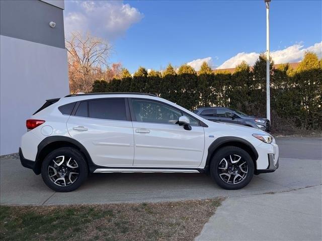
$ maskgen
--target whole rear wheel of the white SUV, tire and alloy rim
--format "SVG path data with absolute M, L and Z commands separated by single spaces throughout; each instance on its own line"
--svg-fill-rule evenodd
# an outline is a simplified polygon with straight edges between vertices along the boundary
M 57 192 L 70 192 L 82 185 L 88 175 L 81 152 L 64 147 L 49 153 L 41 166 L 41 176 L 48 187 Z

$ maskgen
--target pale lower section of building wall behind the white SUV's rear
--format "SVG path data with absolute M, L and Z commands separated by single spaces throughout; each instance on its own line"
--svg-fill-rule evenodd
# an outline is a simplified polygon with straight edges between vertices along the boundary
M 0 155 L 18 152 L 28 119 L 46 99 L 69 94 L 67 51 L 0 36 Z

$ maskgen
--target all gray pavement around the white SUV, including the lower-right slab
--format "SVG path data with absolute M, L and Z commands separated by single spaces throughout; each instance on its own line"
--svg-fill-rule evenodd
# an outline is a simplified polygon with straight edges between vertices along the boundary
M 224 196 L 196 240 L 321 240 L 322 138 L 277 138 L 280 166 L 240 190 L 219 188 L 205 174 L 93 174 L 58 193 L 19 160 L 0 161 L 0 203 L 59 205 L 162 202 Z

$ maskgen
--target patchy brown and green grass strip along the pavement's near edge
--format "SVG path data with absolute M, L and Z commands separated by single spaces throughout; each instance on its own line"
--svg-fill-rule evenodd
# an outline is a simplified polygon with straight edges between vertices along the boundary
M 1 240 L 193 240 L 223 198 L 162 203 L 0 206 Z

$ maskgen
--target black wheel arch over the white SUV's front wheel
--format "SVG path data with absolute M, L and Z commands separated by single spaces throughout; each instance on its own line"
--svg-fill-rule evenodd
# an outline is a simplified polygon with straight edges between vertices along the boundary
M 256 161 L 258 159 L 258 152 L 255 147 L 247 140 L 239 137 L 219 137 L 208 148 L 208 156 L 206 160 L 205 169 L 208 170 L 210 162 L 214 154 L 222 147 L 234 146 L 247 151 L 253 159 L 255 170 L 257 169 Z

